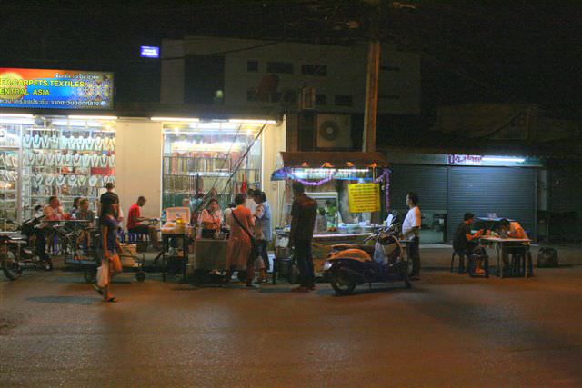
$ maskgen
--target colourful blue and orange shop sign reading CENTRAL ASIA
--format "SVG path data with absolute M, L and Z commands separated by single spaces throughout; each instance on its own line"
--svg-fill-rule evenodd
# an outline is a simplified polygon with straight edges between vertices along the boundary
M 113 109 L 113 73 L 0 67 L 0 107 Z

